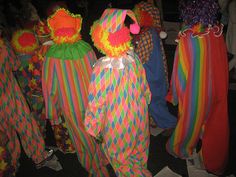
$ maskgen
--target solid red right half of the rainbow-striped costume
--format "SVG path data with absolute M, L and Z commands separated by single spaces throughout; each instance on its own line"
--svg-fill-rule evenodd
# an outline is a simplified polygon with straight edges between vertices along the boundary
M 228 60 L 224 38 L 210 36 L 212 49 L 212 107 L 202 137 L 202 156 L 206 169 L 222 174 L 227 165 L 229 149 L 228 125 Z

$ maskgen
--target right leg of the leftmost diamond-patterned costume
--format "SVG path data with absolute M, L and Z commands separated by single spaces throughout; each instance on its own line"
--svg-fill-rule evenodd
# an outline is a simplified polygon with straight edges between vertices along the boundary
M 14 92 L 15 98 L 12 102 L 16 105 L 16 112 L 10 117 L 9 122 L 19 134 L 27 156 L 32 158 L 35 163 L 39 163 L 47 156 L 43 137 L 36 121 L 30 116 L 28 105 L 16 81 Z

